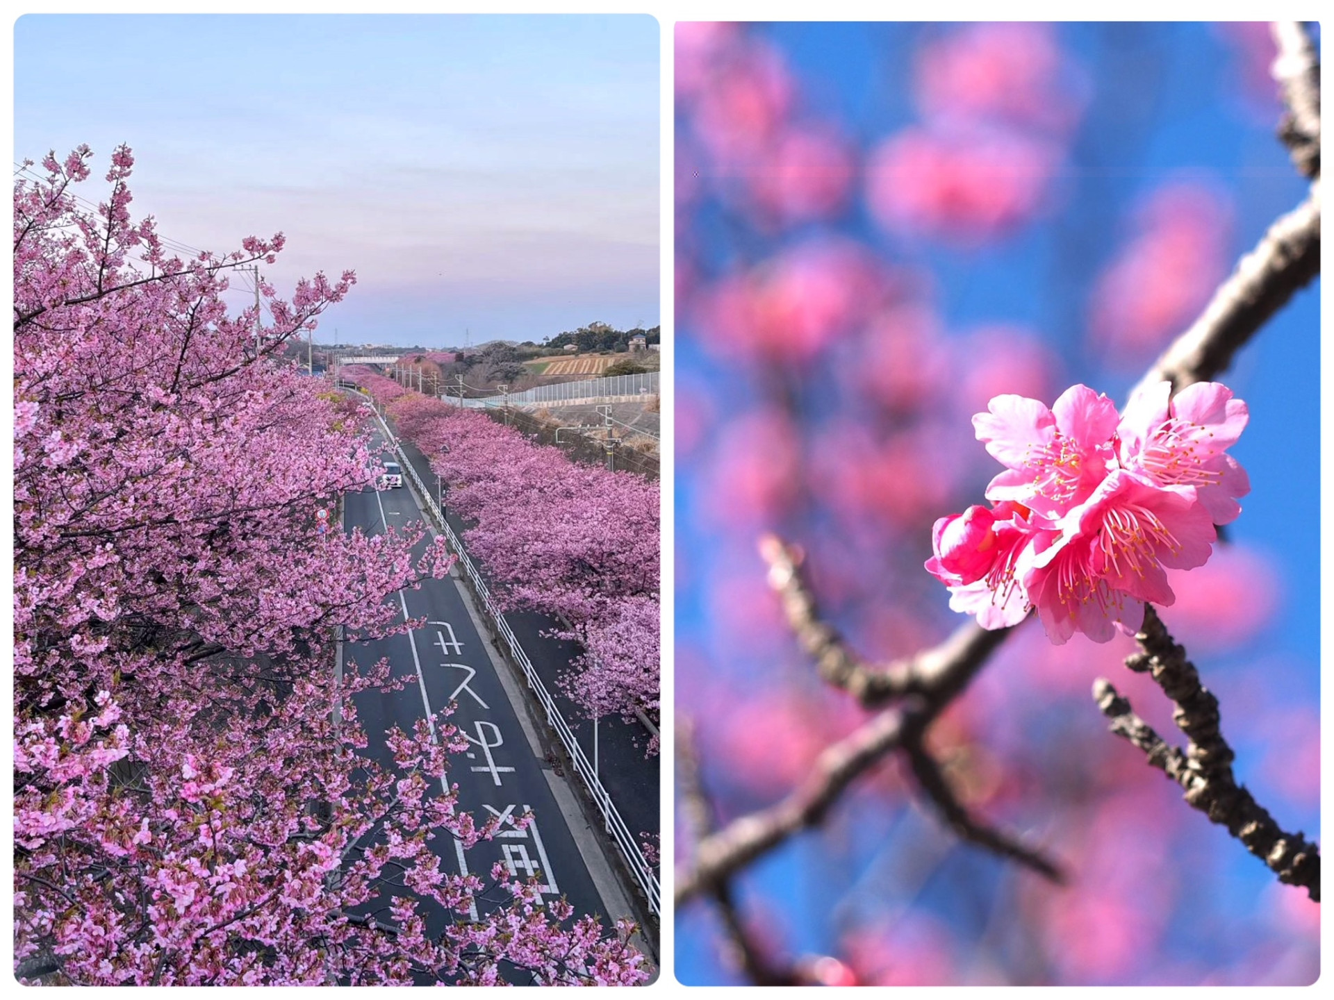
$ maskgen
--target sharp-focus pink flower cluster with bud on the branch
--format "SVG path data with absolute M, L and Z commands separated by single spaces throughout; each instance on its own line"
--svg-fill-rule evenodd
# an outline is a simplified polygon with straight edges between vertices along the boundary
M 938 520 L 926 568 L 983 628 L 1037 608 L 1057 644 L 1075 632 L 1105 643 L 1113 625 L 1134 632 L 1145 601 L 1175 600 L 1165 569 L 1203 565 L 1214 525 L 1241 513 L 1250 481 L 1226 451 L 1247 419 L 1218 383 L 1175 397 L 1166 381 L 1142 388 L 1125 415 L 1087 385 L 1051 409 L 996 396 L 972 417 L 1006 467 L 987 487 L 992 504 Z

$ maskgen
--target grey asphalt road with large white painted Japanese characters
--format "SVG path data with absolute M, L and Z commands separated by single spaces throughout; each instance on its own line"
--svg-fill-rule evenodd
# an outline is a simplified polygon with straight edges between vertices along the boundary
M 347 531 L 359 527 L 367 533 L 380 533 L 386 524 L 406 527 L 423 517 L 411 491 L 403 487 L 348 493 L 343 520 Z M 452 576 L 426 580 L 420 589 L 400 591 L 392 600 L 402 615 L 424 617 L 427 624 L 407 635 L 344 644 L 344 660 L 370 665 L 388 657 L 394 676 L 410 681 L 402 691 L 355 696 L 358 716 L 370 739 L 366 753 L 391 764 L 384 745 L 388 728 L 398 725 L 411 732 L 419 720 L 455 701 L 458 708 L 451 721 L 467 735 L 470 749 L 454 759 L 447 780 L 458 784 L 459 805 L 474 813 L 479 824 L 492 816 L 503 820 L 495 839 L 468 851 L 458 841 L 438 844 L 446 869 L 471 872 L 488 881 L 492 865 L 499 861 L 512 875 L 542 879 L 544 895 L 564 896 L 576 916 L 598 915 L 608 927 L 607 917 L 630 916 L 596 835 L 584 823 L 563 779 L 544 759 L 522 703 L 516 711 L 515 701 L 522 693 L 512 680 L 502 680 L 504 667 L 483 641 L 460 583 Z M 515 829 L 512 820 L 527 812 L 534 821 L 526 829 Z M 498 893 L 488 893 L 478 908 L 487 911 L 502 903 Z M 438 909 L 434 903 L 427 905 L 431 933 L 439 933 L 444 925 L 446 915 Z

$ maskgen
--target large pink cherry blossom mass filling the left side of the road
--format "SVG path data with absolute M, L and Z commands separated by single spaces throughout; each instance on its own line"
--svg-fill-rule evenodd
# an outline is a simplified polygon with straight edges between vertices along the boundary
M 183 260 L 131 217 L 125 147 L 95 211 L 80 147 L 15 185 L 15 957 L 27 983 L 639 983 L 632 925 L 574 920 L 440 843 L 446 715 L 364 751 L 334 636 L 383 636 L 394 591 L 450 564 L 420 527 L 320 532 L 372 483 L 359 408 L 280 364 L 355 277 L 228 277 L 281 233 Z M 33 164 L 27 164 L 32 167 Z M 257 331 L 257 332 L 256 332 Z M 443 788 L 442 788 L 443 785 Z M 439 791 L 438 791 L 439 789 Z M 451 845 L 452 849 L 452 845 Z

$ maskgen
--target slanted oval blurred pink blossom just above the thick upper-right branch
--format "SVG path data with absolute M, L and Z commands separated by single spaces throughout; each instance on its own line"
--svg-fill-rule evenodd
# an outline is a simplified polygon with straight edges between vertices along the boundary
M 1093 292 L 1090 335 L 1106 363 L 1141 368 L 1195 319 L 1227 273 L 1230 232 L 1231 201 L 1210 184 L 1149 195 Z

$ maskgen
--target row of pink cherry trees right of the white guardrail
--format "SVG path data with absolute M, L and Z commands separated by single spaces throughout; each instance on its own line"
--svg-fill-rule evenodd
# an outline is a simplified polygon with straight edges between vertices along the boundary
M 592 716 L 659 705 L 658 484 L 579 465 L 483 413 L 344 369 L 448 484 L 468 552 L 508 607 L 570 623 L 567 688 Z M 656 749 L 656 741 L 651 744 Z

